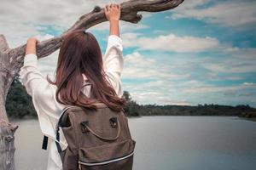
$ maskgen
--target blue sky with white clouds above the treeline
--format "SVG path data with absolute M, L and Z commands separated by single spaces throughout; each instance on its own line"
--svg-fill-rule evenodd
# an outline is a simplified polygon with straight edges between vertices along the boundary
M 9 46 L 58 36 L 95 5 L 123 1 L 0 0 L 0 34 Z M 185 0 L 172 10 L 120 21 L 122 88 L 138 104 L 256 107 L 256 1 Z M 90 28 L 104 54 L 108 22 Z M 53 77 L 59 50 L 38 60 Z

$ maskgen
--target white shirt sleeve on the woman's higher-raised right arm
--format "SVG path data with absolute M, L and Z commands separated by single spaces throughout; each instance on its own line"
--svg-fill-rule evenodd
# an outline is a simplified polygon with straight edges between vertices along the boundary
M 108 45 L 103 56 L 103 68 L 108 77 L 108 81 L 113 86 L 119 97 L 123 95 L 121 72 L 123 70 L 123 45 L 122 39 L 116 35 L 108 37 Z

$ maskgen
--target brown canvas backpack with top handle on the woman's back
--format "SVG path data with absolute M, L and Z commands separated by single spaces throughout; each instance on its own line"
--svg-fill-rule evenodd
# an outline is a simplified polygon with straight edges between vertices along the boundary
M 112 111 L 104 103 L 97 110 L 67 105 L 56 125 L 67 140 L 67 148 L 56 147 L 63 170 L 131 170 L 136 141 L 131 139 L 128 119 L 122 111 Z

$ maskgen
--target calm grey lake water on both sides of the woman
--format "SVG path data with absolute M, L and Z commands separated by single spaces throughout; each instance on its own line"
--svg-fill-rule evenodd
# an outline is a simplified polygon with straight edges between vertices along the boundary
M 45 170 L 47 150 L 38 121 L 14 122 L 18 170 Z M 137 141 L 134 170 L 252 170 L 256 167 L 256 122 L 233 116 L 143 116 L 129 118 Z

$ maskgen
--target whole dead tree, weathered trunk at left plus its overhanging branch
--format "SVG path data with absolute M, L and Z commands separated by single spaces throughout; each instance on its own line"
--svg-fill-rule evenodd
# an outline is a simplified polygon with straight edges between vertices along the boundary
M 141 14 L 137 14 L 137 12 L 165 11 L 176 8 L 180 3 L 183 3 L 183 0 L 130 0 L 121 3 L 120 20 L 137 23 L 143 17 Z M 78 29 L 86 30 L 104 21 L 107 21 L 104 9 L 96 6 L 89 14 L 81 16 L 61 36 L 39 42 L 37 45 L 38 59 L 44 58 L 60 48 L 62 39 L 67 33 Z M 0 169 L 2 170 L 15 169 L 14 133 L 17 126 L 9 123 L 5 110 L 5 101 L 9 87 L 23 65 L 25 50 L 26 44 L 18 48 L 9 48 L 5 37 L 0 35 Z

